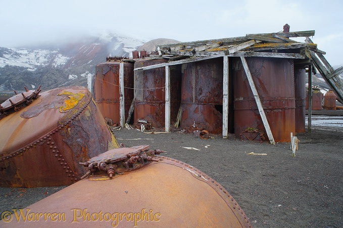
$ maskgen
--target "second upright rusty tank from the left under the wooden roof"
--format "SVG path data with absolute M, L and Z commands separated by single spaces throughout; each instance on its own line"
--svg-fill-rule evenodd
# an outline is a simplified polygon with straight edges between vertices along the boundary
M 134 68 L 166 63 L 165 59 L 144 59 Z M 145 120 L 155 128 L 165 125 L 165 68 L 134 72 L 134 122 Z M 170 119 L 177 118 L 181 94 L 181 66 L 170 66 Z

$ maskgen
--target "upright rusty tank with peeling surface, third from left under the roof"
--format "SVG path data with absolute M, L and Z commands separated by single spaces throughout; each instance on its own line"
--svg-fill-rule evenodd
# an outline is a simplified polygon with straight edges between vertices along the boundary
M 181 128 L 203 126 L 221 134 L 223 129 L 223 59 L 182 65 Z

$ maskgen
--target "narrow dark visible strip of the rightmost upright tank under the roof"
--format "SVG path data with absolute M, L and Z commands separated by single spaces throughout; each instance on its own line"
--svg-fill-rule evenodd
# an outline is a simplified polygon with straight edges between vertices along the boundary
M 296 98 L 296 133 L 305 132 L 306 122 L 306 70 L 294 70 L 295 98 Z

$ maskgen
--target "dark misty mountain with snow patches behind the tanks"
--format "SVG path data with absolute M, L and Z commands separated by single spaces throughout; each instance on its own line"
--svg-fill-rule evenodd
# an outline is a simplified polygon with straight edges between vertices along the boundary
M 145 40 L 106 32 L 54 47 L 0 47 L 0 91 L 23 90 L 42 85 L 53 89 L 67 85 L 87 86 L 87 76 L 108 56 L 129 56 Z

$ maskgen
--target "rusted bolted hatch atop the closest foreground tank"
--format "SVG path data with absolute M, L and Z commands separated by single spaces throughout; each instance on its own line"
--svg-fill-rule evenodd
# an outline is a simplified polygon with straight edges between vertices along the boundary
M 123 145 L 123 144 L 121 144 Z M 80 165 L 87 167 L 87 173 L 81 177 L 84 179 L 94 173 L 107 173 L 112 179 L 113 176 L 123 174 L 140 168 L 152 161 L 159 161 L 156 154 L 163 153 L 162 150 L 149 150 L 148 145 L 134 147 L 120 147 L 99 154 L 87 162 L 80 162 Z

